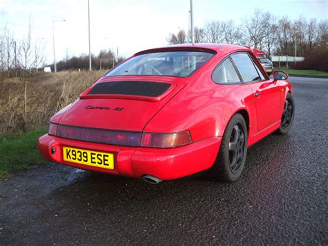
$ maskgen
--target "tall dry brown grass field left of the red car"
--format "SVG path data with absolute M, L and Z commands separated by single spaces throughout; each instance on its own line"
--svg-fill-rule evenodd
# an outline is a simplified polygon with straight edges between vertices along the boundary
M 48 123 L 59 109 L 72 103 L 104 71 L 36 73 L 28 78 L 27 114 L 24 116 L 24 83 L 5 79 L 0 85 L 0 134 L 21 132 Z

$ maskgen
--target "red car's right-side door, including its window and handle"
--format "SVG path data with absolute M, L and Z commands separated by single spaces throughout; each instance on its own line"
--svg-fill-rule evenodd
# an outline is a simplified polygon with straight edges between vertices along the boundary
M 257 132 L 280 119 L 281 89 L 257 67 L 255 58 L 247 52 L 231 55 L 243 82 L 248 83 L 255 97 Z

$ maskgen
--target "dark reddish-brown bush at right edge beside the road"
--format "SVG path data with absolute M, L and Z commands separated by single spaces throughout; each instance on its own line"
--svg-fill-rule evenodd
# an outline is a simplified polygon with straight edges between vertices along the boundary
M 295 62 L 291 67 L 293 69 L 328 71 L 328 49 L 317 51 L 307 56 L 303 62 Z

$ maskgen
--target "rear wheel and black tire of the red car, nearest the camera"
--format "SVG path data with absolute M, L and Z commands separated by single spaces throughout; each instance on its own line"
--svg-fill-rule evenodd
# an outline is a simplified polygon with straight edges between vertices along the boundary
M 233 182 L 237 180 L 244 169 L 247 155 L 248 132 L 242 114 L 235 114 L 230 119 L 217 159 L 212 166 L 212 176 L 215 179 Z

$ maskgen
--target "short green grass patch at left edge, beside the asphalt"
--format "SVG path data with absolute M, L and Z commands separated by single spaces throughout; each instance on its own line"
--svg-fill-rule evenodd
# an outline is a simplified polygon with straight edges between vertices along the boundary
M 46 163 L 37 147 L 37 139 L 46 131 L 46 127 L 42 127 L 25 133 L 0 135 L 0 179 L 9 177 L 12 171 Z

